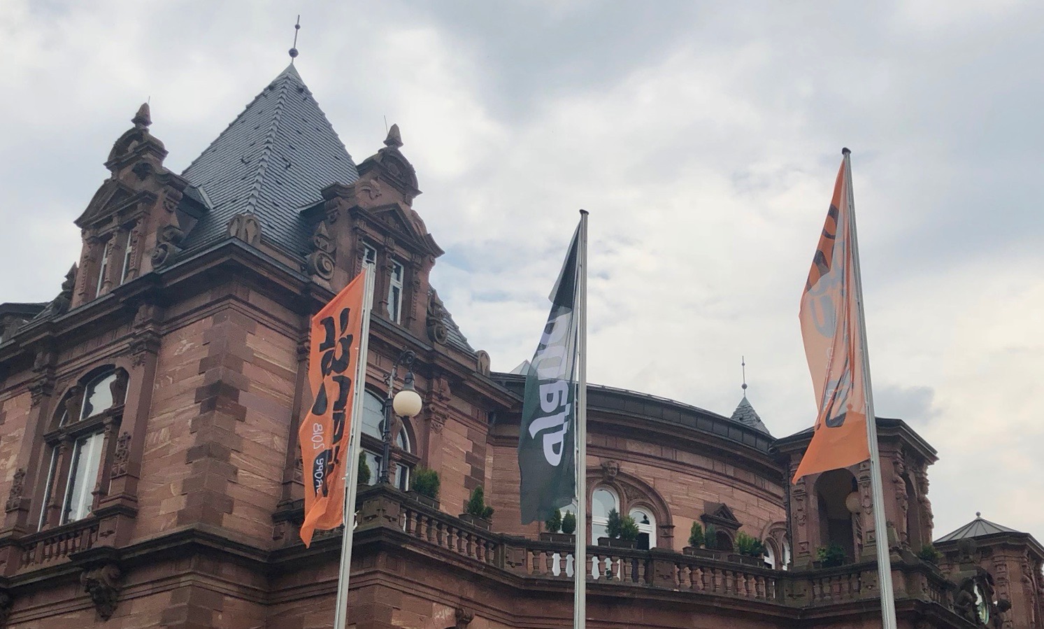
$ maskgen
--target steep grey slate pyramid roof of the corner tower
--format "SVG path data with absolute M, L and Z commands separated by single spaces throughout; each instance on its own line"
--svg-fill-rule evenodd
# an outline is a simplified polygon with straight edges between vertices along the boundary
M 228 234 L 229 220 L 250 212 L 264 237 L 307 251 L 310 233 L 299 210 L 322 201 L 332 183 L 358 178 L 352 156 L 292 66 L 275 78 L 183 173 L 201 189 L 210 211 L 188 235 L 188 249 Z

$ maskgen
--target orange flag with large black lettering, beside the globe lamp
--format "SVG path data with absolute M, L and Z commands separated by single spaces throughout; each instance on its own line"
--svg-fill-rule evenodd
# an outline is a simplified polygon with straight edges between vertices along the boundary
M 352 425 L 353 378 L 362 341 L 365 274 L 360 273 L 312 318 L 308 383 L 313 403 L 298 437 L 305 476 L 301 539 L 345 521 L 345 467 Z

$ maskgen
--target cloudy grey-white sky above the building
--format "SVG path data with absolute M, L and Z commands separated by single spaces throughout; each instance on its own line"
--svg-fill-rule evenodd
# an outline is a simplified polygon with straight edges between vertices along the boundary
M 878 415 L 939 449 L 935 533 L 1044 540 L 1044 4 L 0 0 L 0 301 L 46 301 L 138 106 L 181 171 L 288 57 L 356 161 L 388 123 L 493 367 L 591 212 L 593 382 L 811 424 L 798 301 L 852 148 Z M 848 3 L 852 4 L 852 3 Z

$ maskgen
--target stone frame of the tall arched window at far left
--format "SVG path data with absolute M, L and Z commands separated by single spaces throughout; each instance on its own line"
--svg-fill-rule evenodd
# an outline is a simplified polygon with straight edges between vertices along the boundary
M 80 417 L 82 404 L 92 382 L 116 374 L 116 379 L 110 383 L 113 402 L 89 417 Z M 88 370 L 78 377 L 60 398 L 57 407 L 50 419 L 47 432 L 43 436 L 44 460 L 46 466 L 46 483 L 42 488 L 40 517 L 38 530 L 45 531 L 60 527 L 78 527 L 91 520 L 99 500 L 108 494 L 111 470 L 116 450 L 116 435 L 123 421 L 124 402 L 129 381 L 125 369 L 113 364 L 105 364 Z M 64 421 L 66 418 L 76 418 Z M 102 435 L 101 455 L 98 460 L 93 495 L 89 512 L 77 519 L 63 521 L 67 509 L 67 491 L 69 488 L 72 456 L 76 444 L 92 435 Z

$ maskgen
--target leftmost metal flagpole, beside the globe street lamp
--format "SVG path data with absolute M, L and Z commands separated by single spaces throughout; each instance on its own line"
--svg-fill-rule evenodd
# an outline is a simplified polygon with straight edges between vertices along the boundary
M 334 629 L 345 629 L 348 623 L 348 577 L 352 569 L 352 538 L 355 535 L 355 496 L 359 483 L 359 439 L 362 435 L 362 392 L 366 383 L 366 363 L 370 352 L 370 311 L 374 308 L 374 265 L 365 262 L 362 296 L 362 339 L 356 360 L 355 385 L 352 387 L 351 433 L 348 463 L 345 470 L 345 533 L 340 542 L 340 568 L 337 577 L 337 602 L 334 608 Z

